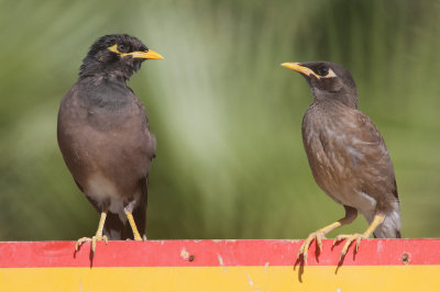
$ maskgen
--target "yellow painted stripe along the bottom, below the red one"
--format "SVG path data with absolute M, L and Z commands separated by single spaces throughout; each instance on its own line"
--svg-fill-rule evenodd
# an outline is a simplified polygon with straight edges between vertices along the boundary
M 438 291 L 440 266 L 8 268 L 0 291 Z

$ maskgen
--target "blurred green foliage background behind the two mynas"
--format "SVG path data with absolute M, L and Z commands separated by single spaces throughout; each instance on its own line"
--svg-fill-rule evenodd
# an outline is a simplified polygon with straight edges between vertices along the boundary
M 150 238 L 301 238 L 343 215 L 302 149 L 309 88 L 279 66 L 306 60 L 352 72 L 395 165 L 404 237 L 439 237 L 439 12 L 436 0 L 0 0 L 0 239 L 95 233 L 56 115 L 109 33 L 165 56 L 130 81 L 158 139 Z

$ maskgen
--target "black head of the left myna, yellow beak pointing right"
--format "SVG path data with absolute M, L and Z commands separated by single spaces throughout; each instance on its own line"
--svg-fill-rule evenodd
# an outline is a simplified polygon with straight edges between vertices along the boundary
M 99 37 L 79 68 L 79 77 L 109 75 L 129 79 L 141 68 L 145 59 L 163 59 L 140 40 L 128 34 L 110 34 Z

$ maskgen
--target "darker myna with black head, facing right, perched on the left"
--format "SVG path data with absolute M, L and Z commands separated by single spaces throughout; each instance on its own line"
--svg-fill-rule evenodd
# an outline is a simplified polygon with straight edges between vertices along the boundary
M 146 184 L 156 139 L 144 105 L 127 81 L 145 59 L 163 59 L 127 34 L 105 35 L 90 47 L 78 81 L 63 98 L 58 145 L 78 188 L 101 214 L 91 238 L 142 240 Z M 106 220 L 107 218 L 107 220 Z

